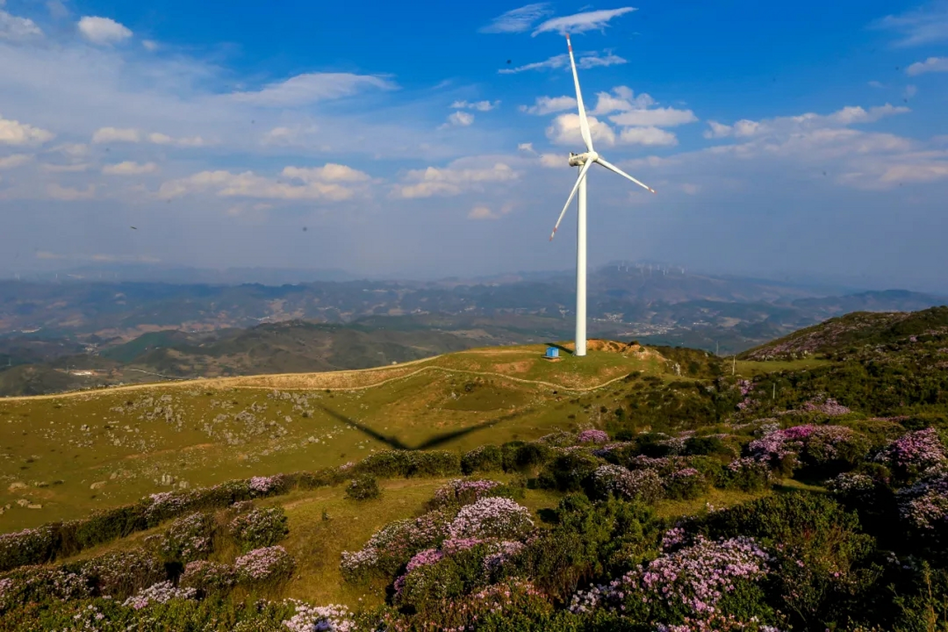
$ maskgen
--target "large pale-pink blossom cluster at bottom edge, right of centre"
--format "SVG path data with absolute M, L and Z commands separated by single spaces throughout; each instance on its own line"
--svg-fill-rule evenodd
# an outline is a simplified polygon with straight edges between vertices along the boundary
M 644 604 L 684 606 L 707 618 L 717 611 L 724 593 L 734 590 L 738 582 L 763 577 L 769 559 L 753 538 L 712 542 L 699 535 L 691 546 L 663 552 L 647 566 L 639 565 L 608 586 L 577 592 L 570 609 L 624 609 L 628 599 L 635 599 Z

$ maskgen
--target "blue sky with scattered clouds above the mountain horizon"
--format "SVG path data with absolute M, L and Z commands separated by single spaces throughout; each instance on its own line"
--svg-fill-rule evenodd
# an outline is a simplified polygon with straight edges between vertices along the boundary
M 659 190 L 592 173 L 593 264 L 948 291 L 944 0 L 0 10 L 7 274 L 569 268 L 569 30 L 596 149 Z

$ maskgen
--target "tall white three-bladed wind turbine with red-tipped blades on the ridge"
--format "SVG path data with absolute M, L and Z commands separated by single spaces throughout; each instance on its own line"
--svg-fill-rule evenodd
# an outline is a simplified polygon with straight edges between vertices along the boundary
M 590 124 L 586 119 L 586 108 L 583 107 L 583 95 L 579 91 L 579 76 L 576 75 L 576 63 L 573 58 L 573 44 L 570 43 L 570 36 L 566 36 L 566 45 L 570 49 L 570 65 L 573 68 L 573 82 L 576 86 L 576 105 L 579 108 L 579 133 L 583 136 L 583 142 L 586 144 L 586 153 L 570 152 L 570 167 L 579 168 L 579 177 L 576 178 L 576 184 L 570 191 L 570 197 L 566 200 L 566 205 L 559 213 L 559 219 L 556 220 L 556 226 L 550 233 L 550 241 L 553 241 L 559 223 L 563 221 L 563 216 L 570 208 L 576 191 L 579 192 L 579 213 L 578 229 L 576 230 L 576 349 L 574 355 L 586 355 L 586 172 L 590 171 L 593 163 L 605 167 L 613 173 L 618 173 L 624 178 L 628 178 L 638 186 L 655 192 L 651 187 L 642 184 L 635 178 L 613 165 L 603 158 L 599 153 L 593 150 L 593 135 L 590 134 Z

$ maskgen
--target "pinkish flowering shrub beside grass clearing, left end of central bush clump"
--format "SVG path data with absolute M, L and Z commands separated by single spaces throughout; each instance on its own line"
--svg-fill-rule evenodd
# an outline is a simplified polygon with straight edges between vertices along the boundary
M 450 515 L 443 511 L 396 520 L 375 532 L 361 550 L 343 551 L 342 574 L 350 581 L 373 570 L 391 574 L 416 552 L 441 544 L 449 523 Z

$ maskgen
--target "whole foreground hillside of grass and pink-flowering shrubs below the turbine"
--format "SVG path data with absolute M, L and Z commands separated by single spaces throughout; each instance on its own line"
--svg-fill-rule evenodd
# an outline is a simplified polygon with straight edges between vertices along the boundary
M 3 400 L 0 631 L 943 630 L 942 317 Z

